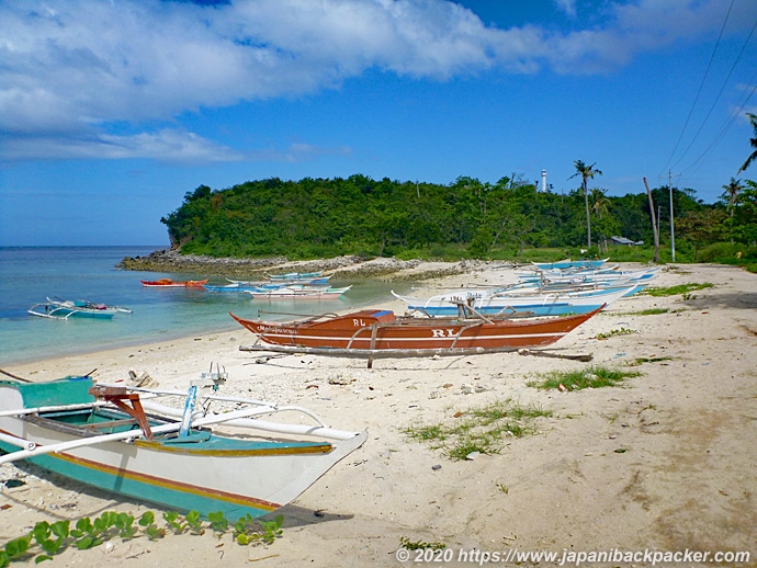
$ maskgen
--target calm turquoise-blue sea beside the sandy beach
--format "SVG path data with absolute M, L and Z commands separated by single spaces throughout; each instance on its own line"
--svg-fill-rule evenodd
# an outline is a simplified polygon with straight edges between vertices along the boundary
M 165 247 L 0 247 L 0 368 L 11 363 L 82 353 L 178 337 L 241 329 L 228 315 L 296 319 L 293 315 L 343 311 L 392 299 L 389 289 L 406 292 L 409 283 L 373 280 L 335 281 L 352 284 L 338 299 L 253 300 L 248 294 L 213 294 L 204 288 L 149 288 L 140 280 L 206 277 L 118 270 L 124 257 L 144 257 Z M 224 284 L 212 279 L 211 284 Z M 46 297 L 88 299 L 127 307 L 133 314 L 113 319 L 57 320 L 26 310 Z M 280 313 L 276 314 L 271 314 Z M 251 336 L 250 336 L 251 337 Z

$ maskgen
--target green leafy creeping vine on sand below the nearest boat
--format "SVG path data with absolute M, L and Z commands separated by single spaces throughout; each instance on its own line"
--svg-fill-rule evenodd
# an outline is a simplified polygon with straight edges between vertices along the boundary
M 140 536 L 157 541 L 170 531 L 173 534 L 202 535 L 207 529 L 222 536 L 231 529 L 234 539 L 239 545 L 273 544 L 281 538 L 281 524 L 284 516 L 279 514 L 270 521 L 252 518 L 247 514 L 233 525 L 223 512 L 210 513 L 203 521 L 197 511 L 181 515 L 176 511 L 162 513 L 165 526 L 158 526 L 152 511 L 145 511 L 139 519 L 129 513 L 105 511 L 92 520 L 89 516 L 71 520 L 37 522 L 24 536 L 13 538 L 0 548 L 0 568 L 14 561 L 26 561 L 34 558 L 35 564 L 53 560 L 55 556 L 69 548 L 86 550 L 94 548 L 113 538 L 131 541 Z

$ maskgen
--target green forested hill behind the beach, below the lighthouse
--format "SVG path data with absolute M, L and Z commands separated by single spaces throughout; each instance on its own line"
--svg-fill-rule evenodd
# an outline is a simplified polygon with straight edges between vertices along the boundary
M 691 190 L 674 189 L 676 239 L 681 246 L 701 249 L 732 237 L 754 241 L 757 200 L 749 183 L 733 206 L 725 201 L 708 205 Z M 652 193 L 665 241 L 668 190 Z M 606 190 L 589 190 L 589 206 L 592 246 L 611 236 L 653 242 L 646 192 L 610 197 Z M 509 178 L 496 184 L 459 178 L 439 185 L 355 174 L 300 181 L 272 178 L 225 190 L 201 185 L 161 221 L 171 243 L 183 253 L 213 257 L 504 258 L 523 248 L 587 245 L 583 190 L 542 193 L 532 183 Z

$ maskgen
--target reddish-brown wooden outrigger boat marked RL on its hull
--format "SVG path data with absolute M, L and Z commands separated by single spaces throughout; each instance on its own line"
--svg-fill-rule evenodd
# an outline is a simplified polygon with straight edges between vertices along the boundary
M 253 321 L 229 315 L 260 341 L 283 348 L 279 351 L 319 353 L 330 350 L 326 354 L 399 356 L 515 351 L 549 345 L 601 309 L 578 316 L 518 320 L 493 320 L 483 316 L 471 319 L 398 317 L 383 309 L 316 316 L 289 323 Z M 265 348 L 240 349 L 262 351 Z

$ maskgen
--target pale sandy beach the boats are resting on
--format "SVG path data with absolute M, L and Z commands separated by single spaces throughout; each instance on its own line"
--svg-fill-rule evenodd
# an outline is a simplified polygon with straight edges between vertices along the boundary
M 445 276 L 426 282 L 425 295 L 501 276 L 501 270 L 485 269 Z M 553 552 L 557 560 L 539 564 L 556 566 L 564 553 L 610 549 L 749 552 L 747 565 L 754 566 L 757 275 L 732 266 L 671 265 L 652 285 L 683 283 L 714 286 L 686 298 L 623 298 L 550 349 L 591 354 L 589 363 L 519 353 L 384 359 L 372 368 L 363 360 L 265 359 L 239 350 L 255 339 L 239 328 L 5 368 L 32 380 L 97 370 L 93 376 L 106 383 L 127 380 L 133 371 L 183 389 L 217 362 L 229 373 L 224 393 L 304 406 L 334 428 L 369 430 L 361 448 L 280 511 L 283 536 L 270 546 L 240 546 L 230 533 L 218 538 L 210 531 L 156 542 L 114 538 L 90 550 L 68 549 L 50 566 L 470 566 L 483 558 L 474 550 Z M 394 300 L 381 307 L 404 311 Z M 640 315 L 653 307 L 668 311 Z M 621 329 L 630 332 L 613 333 Z M 540 373 L 590 365 L 641 375 L 576 391 L 529 386 Z M 465 461 L 404 432 L 505 399 L 552 416 L 536 420 L 533 435 Z M 0 467 L 0 479 L 23 481 L 2 490 L 2 544 L 42 520 L 157 510 L 14 465 Z M 410 550 L 400 563 L 403 538 L 443 543 L 449 556 L 437 558 L 449 561 L 414 561 L 418 553 Z

